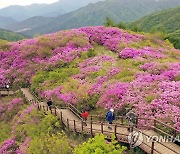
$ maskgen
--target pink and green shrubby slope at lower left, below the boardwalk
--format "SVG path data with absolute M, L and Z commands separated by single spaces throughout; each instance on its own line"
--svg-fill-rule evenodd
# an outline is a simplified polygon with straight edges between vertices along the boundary
M 70 151 L 67 137 L 59 132 L 58 118 L 37 112 L 36 108 L 16 96 L 0 98 L 1 154 L 53 153 L 53 150 L 65 154 Z

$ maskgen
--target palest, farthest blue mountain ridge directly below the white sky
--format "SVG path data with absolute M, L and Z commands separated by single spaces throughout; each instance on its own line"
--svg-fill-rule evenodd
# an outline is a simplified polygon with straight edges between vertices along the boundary
M 12 5 L 0 9 L 0 16 L 22 21 L 34 16 L 58 16 L 99 0 L 60 0 L 52 4 Z

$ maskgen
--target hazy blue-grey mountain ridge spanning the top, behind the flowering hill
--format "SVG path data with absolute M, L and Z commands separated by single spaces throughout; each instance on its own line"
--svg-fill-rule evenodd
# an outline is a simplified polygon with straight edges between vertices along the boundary
M 32 37 L 35 34 L 51 33 L 64 29 L 103 25 L 107 16 L 111 17 L 116 22 L 132 22 L 154 12 L 180 6 L 180 0 L 106 0 L 89 4 L 75 10 L 80 6 L 80 4 L 82 6 L 88 4 L 89 2 L 96 2 L 98 0 L 86 0 L 82 1 L 80 4 L 77 3 L 80 1 L 82 0 L 61 0 L 57 3 L 49 5 L 42 4 L 42 6 L 49 6 L 50 8 L 56 5 L 56 8 L 63 8 L 60 10 L 74 11 L 61 14 L 57 17 L 48 17 L 50 14 L 55 15 L 55 12 L 58 12 L 56 10 L 49 13 L 41 11 L 43 16 L 46 17 L 31 17 L 14 24 L 6 25 L 5 28 L 15 32 L 21 32 L 24 35 Z M 38 4 L 38 6 L 39 5 L 40 4 Z M 50 11 L 50 8 L 47 10 Z M 0 10 L 0 15 L 1 11 L 2 9 Z

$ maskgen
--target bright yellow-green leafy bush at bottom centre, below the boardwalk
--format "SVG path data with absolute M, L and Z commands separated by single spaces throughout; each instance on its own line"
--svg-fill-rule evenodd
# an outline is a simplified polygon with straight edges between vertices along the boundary
M 107 143 L 103 134 L 98 134 L 87 142 L 77 146 L 74 154 L 124 154 L 126 147 L 120 146 L 112 135 L 112 141 Z

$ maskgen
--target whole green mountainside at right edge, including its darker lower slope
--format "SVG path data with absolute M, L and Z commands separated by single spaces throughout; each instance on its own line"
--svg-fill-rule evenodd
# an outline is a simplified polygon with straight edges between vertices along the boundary
M 180 49 L 180 7 L 163 10 L 140 20 L 130 23 L 129 26 L 138 26 L 143 31 L 161 30 L 168 34 L 168 38 L 177 49 Z

